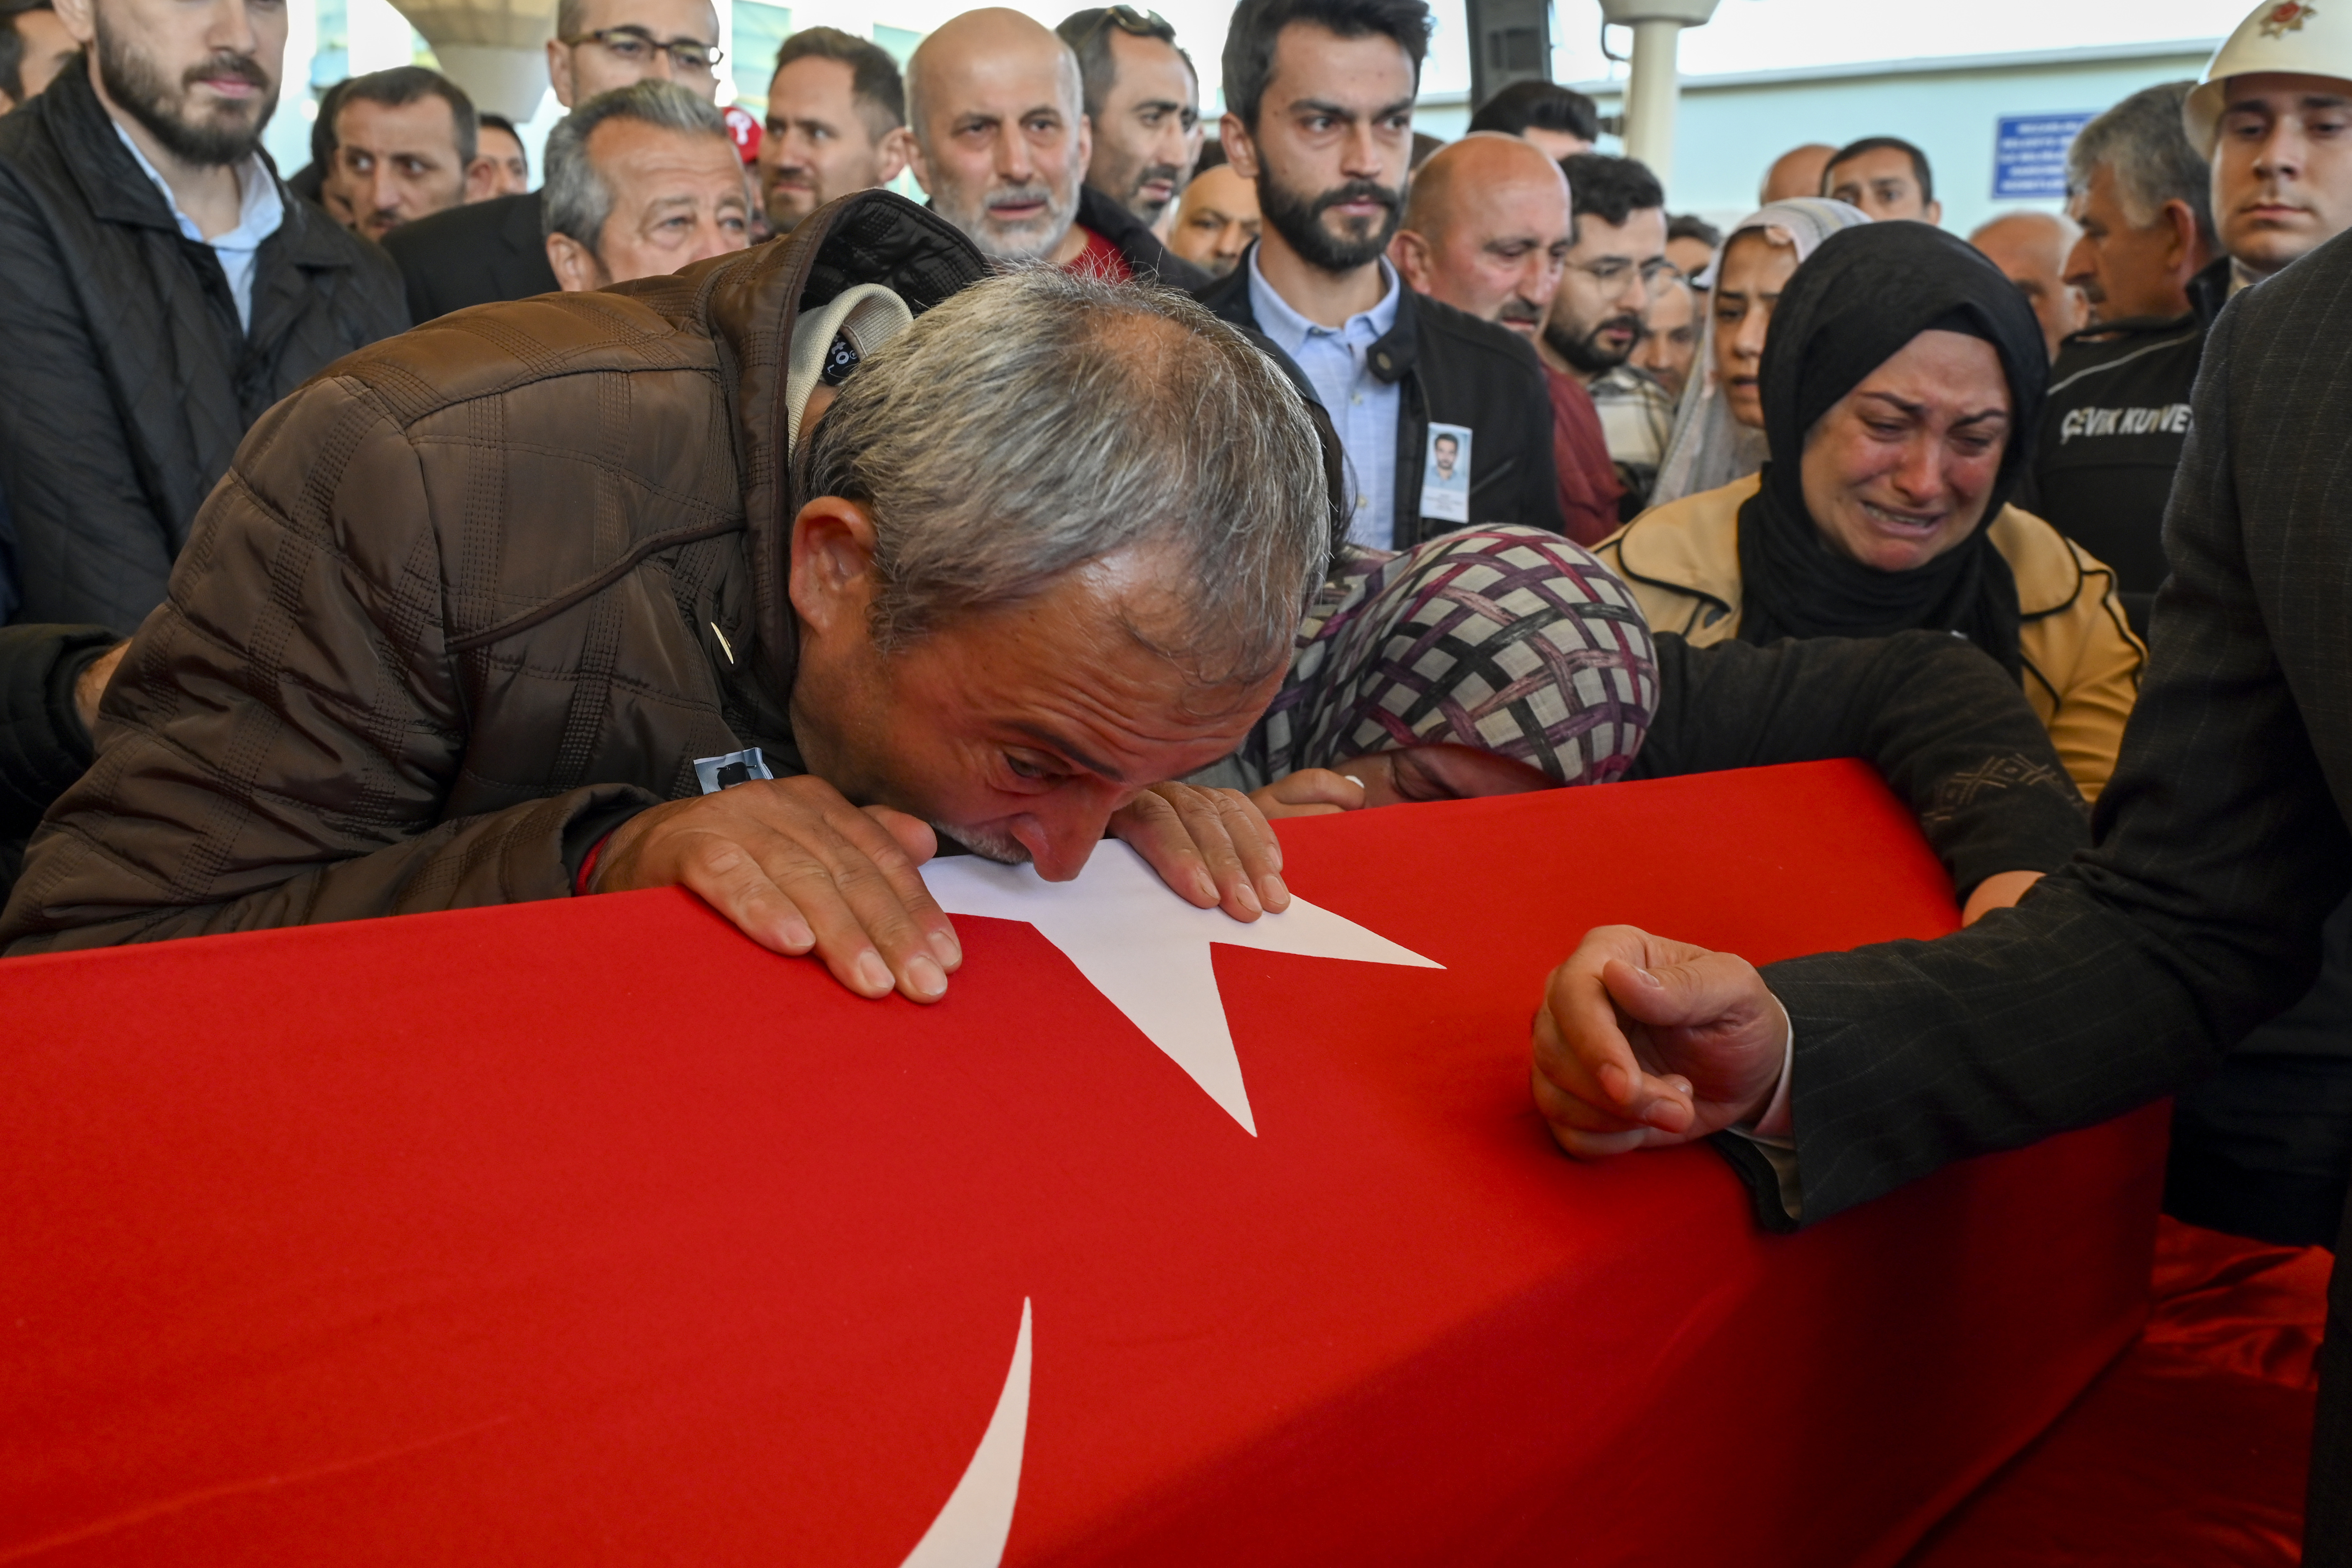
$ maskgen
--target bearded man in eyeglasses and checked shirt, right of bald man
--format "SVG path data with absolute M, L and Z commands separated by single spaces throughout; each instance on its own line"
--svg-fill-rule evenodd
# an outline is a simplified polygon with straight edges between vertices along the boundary
M 1536 350 L 1592 395 L 1630 520 L 1649 505 L 1658 458 L 1675 433 L 1675 400 L 1628 360 L 1642 343 L 1651 289 L 1672 273 L 1665 188 L 1646 165 L 1606 153 L 1559 160 L 1576 202 L 1576 242 Z

